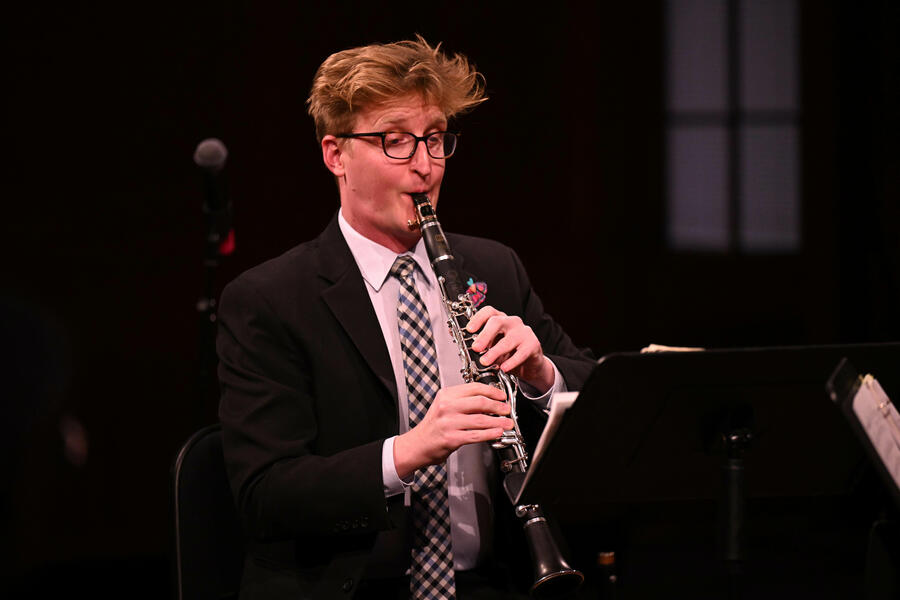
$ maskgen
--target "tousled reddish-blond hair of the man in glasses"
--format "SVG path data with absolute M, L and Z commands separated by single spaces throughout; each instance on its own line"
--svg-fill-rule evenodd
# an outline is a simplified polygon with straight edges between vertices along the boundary
M 332 54 L 319 66 L 309 99 L 319 141 L 348 133 L 359 111 L 411 93 L 437 105 L 447 118 L 487 100 L 484 77 L 462 54 L 415 40 L 371 44 Z

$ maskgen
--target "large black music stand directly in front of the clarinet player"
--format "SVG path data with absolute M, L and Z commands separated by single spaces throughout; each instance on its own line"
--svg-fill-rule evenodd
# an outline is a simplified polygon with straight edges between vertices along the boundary
M 826 392 L 845 358 L 900 391 L 900 343 L 605 356 L 519 498 L 575 523 L 633 503 L 715 501 L 736 596 L 748 499 L 846 494 L 859 476 L 865 456 Z

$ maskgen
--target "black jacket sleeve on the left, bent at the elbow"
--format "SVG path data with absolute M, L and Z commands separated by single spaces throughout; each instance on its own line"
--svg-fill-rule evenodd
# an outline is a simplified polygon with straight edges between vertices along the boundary
M 247 534 L 277 540 L 391 528 L 383 438 L 316 453 L 321 399 L 312 358 L 255 283 L 242 276 L 223 291 L 217 338 L 225 459 Z

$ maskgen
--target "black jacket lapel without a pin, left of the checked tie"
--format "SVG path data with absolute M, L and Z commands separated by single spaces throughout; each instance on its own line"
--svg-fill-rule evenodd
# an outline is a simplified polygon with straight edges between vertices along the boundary
M 363 359 L 397 404 L 397 383 L 391 359 L 353 254 L 335 216 L 319 236 L 319 276 L 327 283 L 322 299 L 353 340 Z

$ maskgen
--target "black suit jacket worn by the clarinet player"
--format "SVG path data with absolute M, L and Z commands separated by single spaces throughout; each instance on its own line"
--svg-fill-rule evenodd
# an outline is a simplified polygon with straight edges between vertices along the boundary
M 593 357 L 544 313 L 515 253 L 447 239 L 487 283 L 486 304 L 522 317 L 578 389 Z M 218 317 L 225 459 L 249 538 L 242 598 L 346 598 L 376 534 L 402 543 L 407 519 L 382 483 L 382 444 L 399 431 L 394 374 L 337 218 L 231 282 Z

